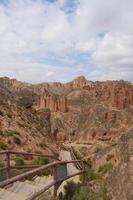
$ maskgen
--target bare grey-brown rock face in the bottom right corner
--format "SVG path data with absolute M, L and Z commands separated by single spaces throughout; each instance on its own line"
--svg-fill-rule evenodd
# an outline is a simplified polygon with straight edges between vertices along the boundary
M 112 200 L 133 199 L 133 129 L 124 134 L 117 147 L 118 165 L 107 178 Z

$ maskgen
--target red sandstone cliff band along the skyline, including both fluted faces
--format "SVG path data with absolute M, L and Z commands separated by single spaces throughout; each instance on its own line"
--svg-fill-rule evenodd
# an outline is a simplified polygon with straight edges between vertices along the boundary
M 0 78 L 0 84 L 15 94 L 17 92 L 16 96 L 37 96 L 37 109 L 50 108 L 52 112 L 66 112 L 67 96 L 72 90 L 77 92 L 78 89 L 88 90 L 99 103 L 119 110 L 133 105 L 133 85 L 125 81 L 92 82 L 80 76 L 65 84 L 56 82 L 33 85 L 5 77 Z

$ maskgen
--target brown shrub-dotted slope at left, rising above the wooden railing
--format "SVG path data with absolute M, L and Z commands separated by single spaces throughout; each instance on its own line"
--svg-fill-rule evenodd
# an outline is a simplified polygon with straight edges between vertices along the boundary
M 0 84 L 0 150 L 49 152 L 55 148 L 50 142 L 50 110 L 37 112 L 29 99 L 19 97 L 18 85 L 15 87 L 3 80 Z

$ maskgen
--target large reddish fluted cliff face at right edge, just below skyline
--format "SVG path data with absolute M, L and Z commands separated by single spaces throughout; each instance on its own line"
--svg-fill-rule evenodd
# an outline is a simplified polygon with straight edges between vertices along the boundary
M 119 110 L 133 105 L 133 85 L 124 81 L 97 82 L 91 89 L 96 98 Z

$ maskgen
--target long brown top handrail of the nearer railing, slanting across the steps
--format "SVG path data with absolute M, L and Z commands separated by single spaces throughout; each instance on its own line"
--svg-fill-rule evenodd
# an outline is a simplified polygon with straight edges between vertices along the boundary
M 19 181 L 21 179 L 27 178 L 29 176 L 34 176 L 34 175 L 38 174 L 39 172 L 41 172 L 41 171 L 43 171 L 43 170 L 45 170 L 45 169 L 47 169 L 49 167 L 54 167 L 54 166 L 57 166 L 59 164 L 61 165 L 61 164 L 69 164 L 69 163 L 76 163 L 76 162 L 82 162 L 82 160 L 52 162 L 50 164 L 43 165 L 43 166 L 41 166 L 41 167 L 39 167 L 37 169 L 33 169 L 33 170 L 29 171 L 29 172 L 25 172 L 25 173 L 23 173 L 21 175 L 17 175 L 17 176 L 15 176 L 13 178 L 10 178 L 10 179 L 7 179 L 5 181 L 2 181 L 2 182 L 0 182 L 0 187 L 5 187 L 5 186 L 7 186 L 9 184 L 12 184 L 12 183 L 14 183 L 16 181 Z

